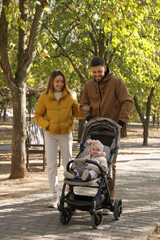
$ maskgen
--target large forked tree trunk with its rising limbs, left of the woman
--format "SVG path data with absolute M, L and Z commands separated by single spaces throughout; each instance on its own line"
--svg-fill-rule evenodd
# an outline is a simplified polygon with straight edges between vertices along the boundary
M 30 22 L 29 1 L 21 0 L 19 3 L 20 16 L 19 32 L 17 44 L 17 70 L 15 77 L 13 75 L 9 54 L 8 54 L 8 17 L 6 17 L 7 8 L 10 1 L 4 0 L 0 15 L 0 65 L 4 73 L 5 80 L 12 92 L 13 101 L 13 134 L 12 134 L 12 162 L 10 178 L 23 178 L 26 175 L 26 80 L 30 72 L 37 51 L 37 41 L 42 24 L 47 0 L 39 0 L 35 3 L 35 14 Z M 20 22 L 23 22 L 23 27 Z M 30 26 L 30 27 L 29 27 Z M 30 32 L 29 32 L 30 30 Z M 27 39 L 28 38 L 28 39 Z

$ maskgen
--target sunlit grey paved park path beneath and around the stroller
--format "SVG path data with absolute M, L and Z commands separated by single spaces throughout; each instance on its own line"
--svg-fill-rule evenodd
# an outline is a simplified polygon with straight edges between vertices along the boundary
M 160 222 L 160 139 L 150 141 L 147 148 L 135 140 L 121 144 L 116 183 L 116 198 L 123 201 L 119 221 L 111 213 L 103 217 L 99 229 L 92 229 L 89 213 L 76 211 L 69 224 L 62 225 L 59 211 L 47 208 L 49 191 L 43 191 L 0 205 L 0 239 L 147 240 Z M 62 171 L 59 168 L 61 180 Z

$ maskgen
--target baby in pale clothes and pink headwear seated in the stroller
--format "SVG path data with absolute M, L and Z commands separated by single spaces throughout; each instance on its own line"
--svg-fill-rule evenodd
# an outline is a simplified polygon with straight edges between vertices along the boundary
M 91 140 L 87 141 L 91 144 L 90 154 L 85 157 L 85 159 L 96 161 L 105 172 L 107 170 L 107 160 L 105 158 L 106 154 L 103 152 L 104 146 L 99 140 Z M 92 164 L 86 163 L 85 170 L 82 173 L 82 180 L 89 181 L 93 178 L 96 178 L 100 174 L 100 169 Z M 68 179 L 74 179 L 80 177 L 79 172 L 75 169 L 75 164 L 72 164 L 71 171 L 65 171 L 64 177 Z

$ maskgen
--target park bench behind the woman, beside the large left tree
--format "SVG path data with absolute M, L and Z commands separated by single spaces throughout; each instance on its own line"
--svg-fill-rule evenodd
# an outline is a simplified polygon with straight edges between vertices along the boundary
M 43 171 L 45 171 L 46 158 L 45 158 L 44 130 L 41 127 L 39 127 L 36 122 L 29 123 L 27 125 L 26 153 L 27 153 L 26 167 L 28 170 L 29 170 L 29 155 L 40 153 L 43 155 Z M 60 166 L 61 152 L 59 149 L 58 155 L 59 155 L 58 166 Z

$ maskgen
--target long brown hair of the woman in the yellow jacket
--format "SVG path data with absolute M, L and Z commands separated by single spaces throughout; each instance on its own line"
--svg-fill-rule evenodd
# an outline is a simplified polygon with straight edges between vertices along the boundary
M 45 93 L 48 93 L 49 90 L 51 90 L 51 91 L 54 92 L 53 82 L 54 82 L 55 77 L 57 77 L 57 76 L 62 76 L 62 77 L 63 77 L 63 80 L 64 80 L 64 87 L 63 87 L 63 89 L 66 89 L 66 91 L 68 92 L 68 94 L 71 95 L 71 92 L 70 92 L 70 90 L 69 90 L 69 88 L 68 88 L 68 85 L 67 85 L 66 78 L 65 78 L 65 76 L 64 76 L 64 74 L 63 74 L 63 72 L 62 72 L 61 70 L 54 70 L 54 71 L 51 73 L 51 76 L 50 76 L 50 78 L 49 78 L 48 85 L 47 85 L 47 89 L 46 89 Z M 63 90 L 63 89 L 62 89 L 62 90 Z

